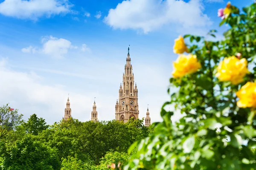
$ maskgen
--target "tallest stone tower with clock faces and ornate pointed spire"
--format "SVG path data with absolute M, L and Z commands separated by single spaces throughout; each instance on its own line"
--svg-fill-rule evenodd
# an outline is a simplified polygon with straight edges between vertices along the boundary
M 123 81 L 119 88 L 119 102 L 116 101 L 115 107 L 116 120 L 128 122 L 128 119 L 139 117 L 138 105 L 138 89 L 135 83 L 134 87 L 134 74 L 132 72 L 131 58 L 128 54 L 125 64 L 125 72 L 123 73 Z

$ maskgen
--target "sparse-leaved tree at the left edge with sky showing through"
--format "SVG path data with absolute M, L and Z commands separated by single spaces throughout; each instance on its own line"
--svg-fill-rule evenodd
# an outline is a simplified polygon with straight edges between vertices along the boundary
M 0 107 L 0 139 L 20 125 L 22 116 L 22 114 L 17 114 L 17 109 L 10 111 L 8 104 Z

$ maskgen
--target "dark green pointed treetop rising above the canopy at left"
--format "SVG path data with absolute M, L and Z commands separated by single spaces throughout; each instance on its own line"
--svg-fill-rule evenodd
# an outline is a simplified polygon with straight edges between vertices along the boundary
M 27 122 L 23 123 L 23 126 L 26 129 L 27 133 L 38 135 L 38 133 L 46 130 L 49 125 L 46 125 L 46 122 L 43 118 L 38 118 L 36 114 L 32 114 Z

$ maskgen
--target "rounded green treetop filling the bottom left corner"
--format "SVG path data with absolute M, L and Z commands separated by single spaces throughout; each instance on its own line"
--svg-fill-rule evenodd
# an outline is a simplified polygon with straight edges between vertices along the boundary
M 28 134 L 1 149 L 3 170 L 59 170 L 57 152 Z

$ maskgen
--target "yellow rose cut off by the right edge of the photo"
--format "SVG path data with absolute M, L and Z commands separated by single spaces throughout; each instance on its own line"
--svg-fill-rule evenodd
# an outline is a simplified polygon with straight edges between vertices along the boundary
M 237 102 L 239 108 L 256 108 L 256 83 L 247 82 L 236 92 L 236 96 L 239 97 Z

